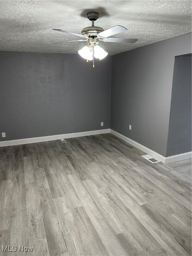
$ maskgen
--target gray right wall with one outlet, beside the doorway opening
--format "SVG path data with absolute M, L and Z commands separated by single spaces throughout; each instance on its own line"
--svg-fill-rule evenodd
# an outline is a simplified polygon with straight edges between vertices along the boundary
M 174 59 L 188 53 L 191 33 L 113 55 L 111 129 L 166 156 Z

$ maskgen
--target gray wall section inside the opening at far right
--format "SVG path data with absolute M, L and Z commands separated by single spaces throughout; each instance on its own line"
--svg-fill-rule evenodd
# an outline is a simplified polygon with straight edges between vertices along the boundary
M 166 156 L 191 151 L 191 55 L 175 57 Z

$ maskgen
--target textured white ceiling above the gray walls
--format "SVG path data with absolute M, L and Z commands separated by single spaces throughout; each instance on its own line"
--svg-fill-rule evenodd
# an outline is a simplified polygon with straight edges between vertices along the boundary
M 138 38 L 134 44 L 103 43 L 109 55 L 191 31 L 191 1 L 0 1 L 0 50 L 77 53 L 83 42 L 74 35 L 53 31 L 61 28 L 80 33 L 91 26 L 88 11 L 100 14 L 96 26 L 122 25 L 128 30 L 114 37 Z

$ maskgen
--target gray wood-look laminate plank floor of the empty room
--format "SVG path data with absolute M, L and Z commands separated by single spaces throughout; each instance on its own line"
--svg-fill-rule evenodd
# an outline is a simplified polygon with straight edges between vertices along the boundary
M 191 255 L 190 160 L 153 164 L 111 134 L 66 141 L 0 148 L 0 255 Z

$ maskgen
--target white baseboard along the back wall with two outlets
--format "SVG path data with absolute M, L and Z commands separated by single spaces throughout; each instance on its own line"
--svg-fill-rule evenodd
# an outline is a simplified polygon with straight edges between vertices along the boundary
M 103 134 L 103 133 L 109 133 L 109 132 L 110 132 L 110 129 L 102 129 L 102 130 L 95 130 L 95 131 L 66 133 L 66 134 L 26 138 L 26 139 L 19 139 L 19 140 L 5 140 L 5 141 L 0 141 L 0 147 L 37 143 L 37 142 L 50 141 L 50 140 L 60 140 L 60 139 L 67 139 L 67 138 L 74 138 L 74 137 L 83 137 L 88 135 L 96 135 L 96 134 Z

